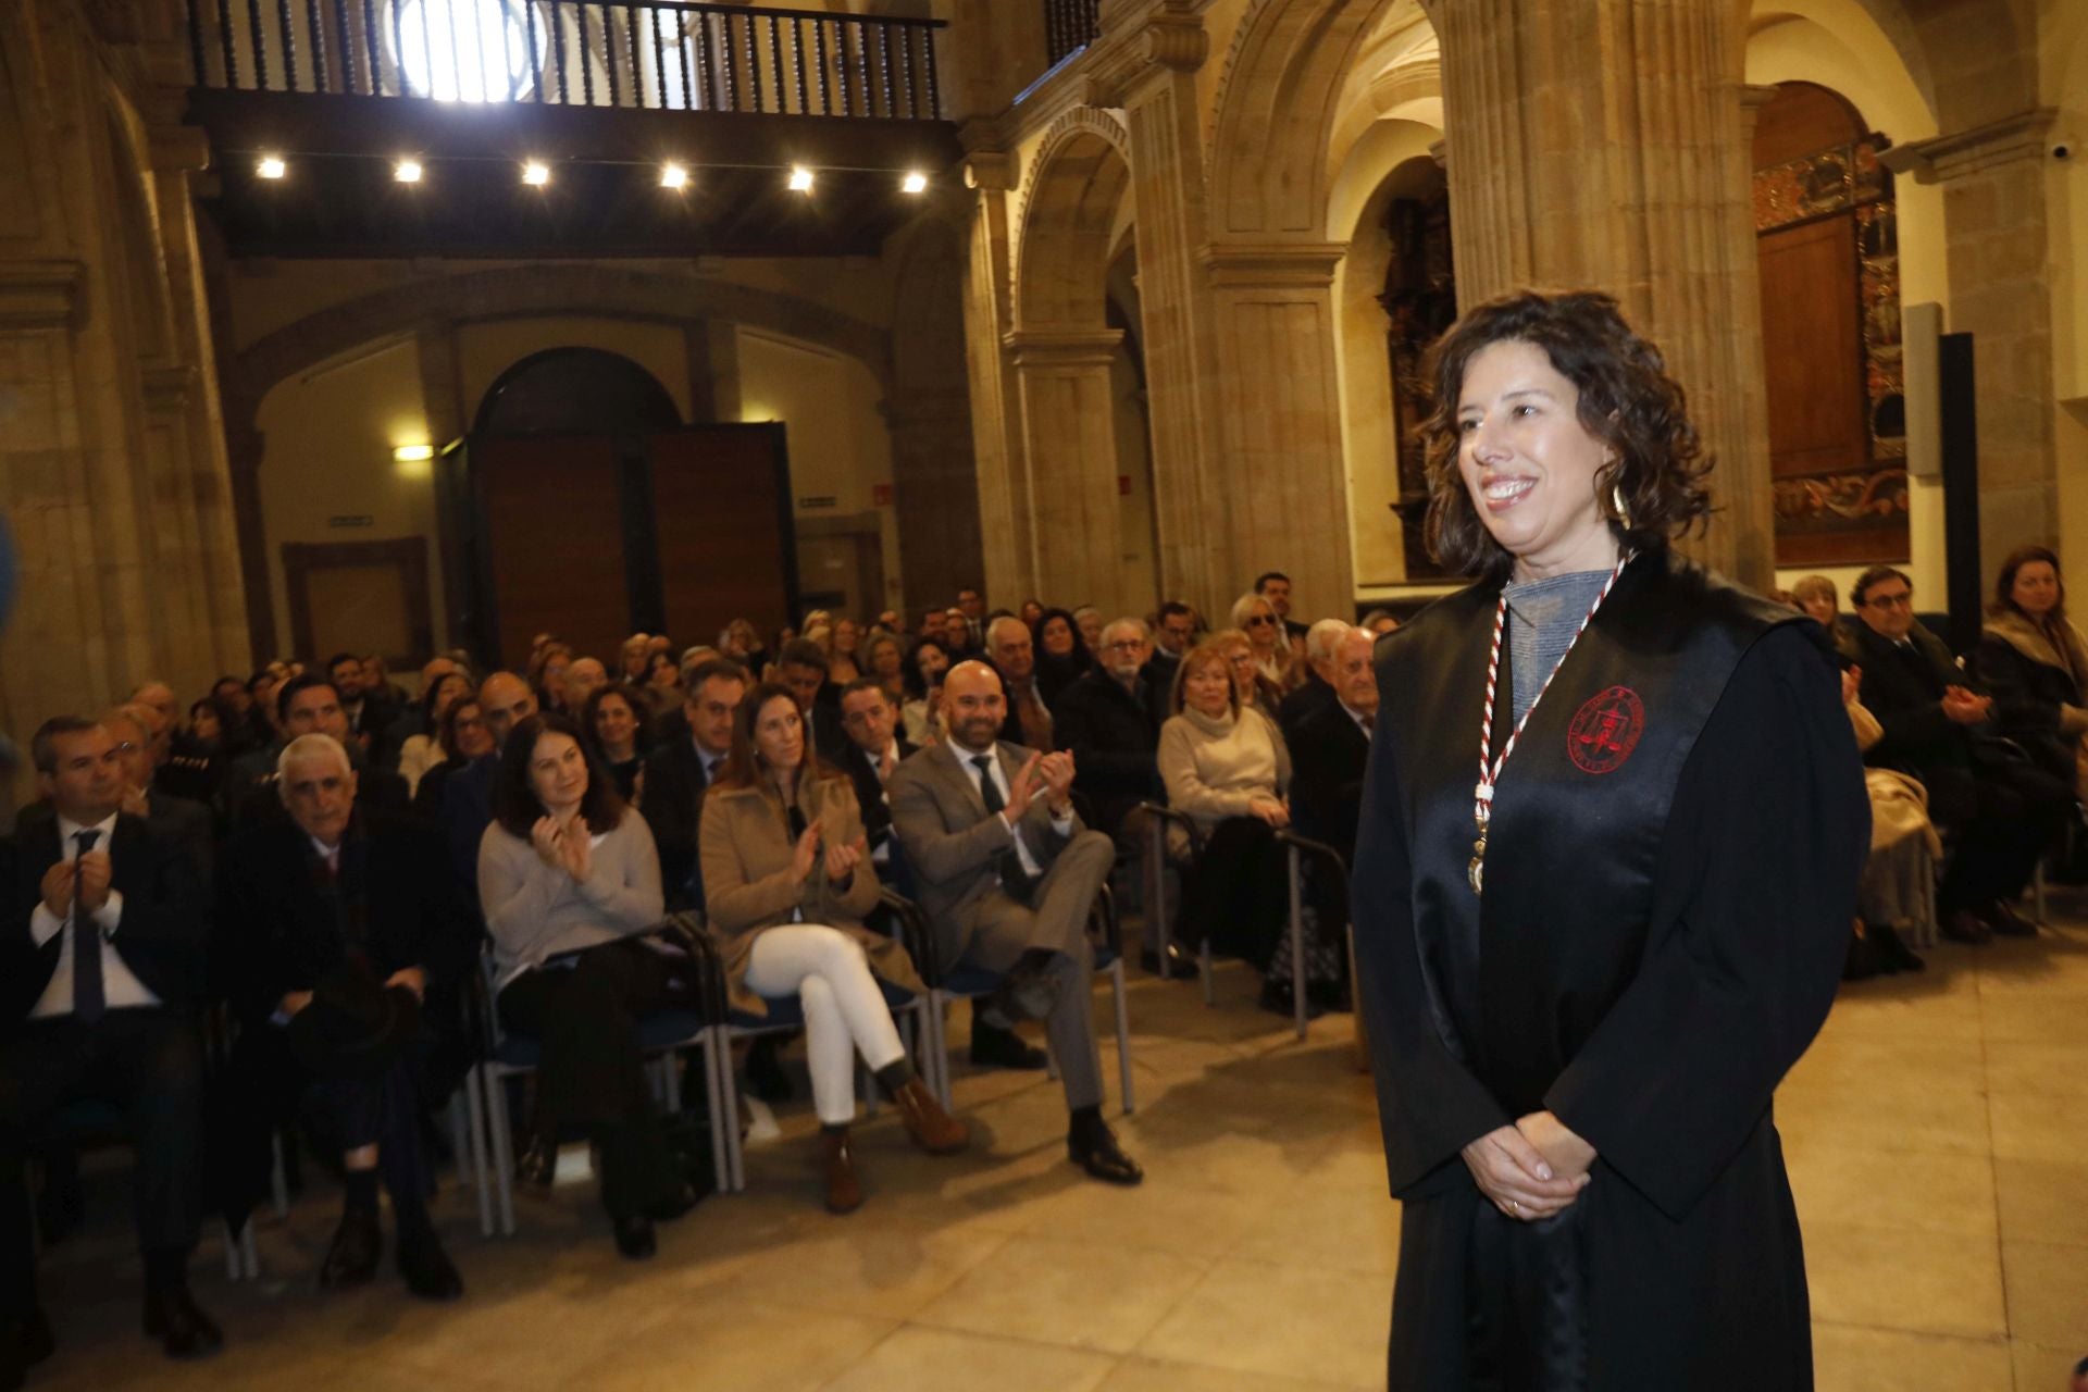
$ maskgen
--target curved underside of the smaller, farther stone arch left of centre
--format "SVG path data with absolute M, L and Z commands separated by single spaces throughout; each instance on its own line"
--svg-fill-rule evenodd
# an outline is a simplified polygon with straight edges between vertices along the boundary
M 1100 328 L 1111 234 L 1132 184 L 1130 134 L 1077 106 L 1046 131 L 1023 194 L 1015 321 Z

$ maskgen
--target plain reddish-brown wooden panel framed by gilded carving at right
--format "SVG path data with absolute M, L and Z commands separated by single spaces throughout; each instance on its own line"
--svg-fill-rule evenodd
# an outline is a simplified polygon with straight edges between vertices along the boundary
M 1856 223 L 1827 217 L 1758 240 L 1773 474 L 1869 467 L 1856 332 Z

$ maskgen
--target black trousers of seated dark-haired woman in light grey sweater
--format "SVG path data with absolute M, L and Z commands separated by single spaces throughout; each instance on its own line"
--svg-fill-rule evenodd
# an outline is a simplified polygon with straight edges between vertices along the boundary
M 631 939 L 522 973 L 501 991 L 507 1029 L 543 1043 L 535 1131 L 587 1127 L 601 1146 L 601 1204 L 612 1215 L 639 1213 L 674 1192 L 639 1021 L 693 991 L 687 964 Z

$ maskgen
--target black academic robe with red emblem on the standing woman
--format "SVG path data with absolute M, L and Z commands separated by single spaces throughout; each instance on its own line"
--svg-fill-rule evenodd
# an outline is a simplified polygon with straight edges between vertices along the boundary
M 1810 1388 L 1771 1096 L 1833 1002 L 1869 843 L 1833 666 L 1764 601 L 1641 557 L 1516 743 L 1480 897 L 1497 595 L 1432 605 L 1378 666 L 1353 902 L 1405 1206 L 1391 1388 Z M 1599 1158 L 1522 1223 L 1460 1150 L 1535 1110 Z

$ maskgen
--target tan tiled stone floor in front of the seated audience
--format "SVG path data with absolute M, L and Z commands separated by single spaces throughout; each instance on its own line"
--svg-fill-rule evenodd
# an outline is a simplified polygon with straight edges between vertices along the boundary
M 2088 899 L 2080 904 L 2088 908 Z M 1844 987 L 1779 1096 L 1804 1219 L 1825 1392 L 2063 1392 L 2088 1352 L 2088 927 Z M 230 1346 L 169 1365 L 138 1336 L 117 1173 L 90 1227 L 46 1254 L 58 1357 L 31 1388 L 691 1388 L 699 1392 L 1311 1392 L 1382 1386 L 1399 1213 L 1349 1018 L 1299 1046 L 1228 970 L 1219 1008 L 1134 979 L 1140 1110 L 1119 1121 L 1146 1185 L 1063 1160 L 1042 1077 L 963 1075 L 971 1154 L 931 1160 L 864 1127 L 871 1202 L 814 1206 L 804 1106 L 750 1152 L 750 1192 L 610 1248 L 585 1187 L 478 1235 L 441 1221 L 470 1294 L 430 1309 L 397 1279 L 322 1296 L 332 1198 L 261 1227 L 263 1279 L 196 1290 Z M 1107 1018 L 1107 1016 L 1105 1016 Z M 1115 1079 L 1113 1050 L 1105 1071 Z M 1769 1392 L 1769 1390 L 1764 1390 Z

